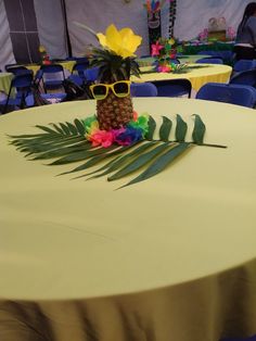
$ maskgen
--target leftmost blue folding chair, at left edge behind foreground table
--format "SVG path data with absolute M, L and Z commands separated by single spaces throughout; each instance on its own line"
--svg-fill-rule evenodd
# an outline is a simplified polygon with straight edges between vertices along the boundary
M 5 114 L 9 106 L 15 109 L 23 109 L 25 106 L 26 97 L 30 94 L 33 86 L 33 72 L 14 76 L 11 81 L 8 98 L 0 102 L 3 106 L 2 114 Z M 15 89 L 15 97 L 12 98 L 11 93 Z

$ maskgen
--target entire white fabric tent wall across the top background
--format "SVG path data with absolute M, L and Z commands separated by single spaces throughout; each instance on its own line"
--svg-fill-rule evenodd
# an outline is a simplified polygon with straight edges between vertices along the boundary
M 22 0 L 21 0 L 22 1 Z M 34 0 L 39 39 L 51 58 L 65 58 L 67 45 L 61 3 L 64 0 Z M 143 38 L 138 54 L 149 53 L 149 35 L 145 0 L 65 0 L 68 31 L 74 55 L 82 55 L 86 47 L 97 43 L 88 31 L 77 27 L 74 22 L 90 26 L 95 31 L 104 31 L 114 23 L 118 28 L 129 26 Z M 227 26 L 236 29 L 245 5 L 251 0 L 177 0 L 175 36 L 189 40 L 208 26 L 210 17 L 225 17 Z M 9 27 L 4 17 L 3 0 L 1 5 L 1 54 L 0 63 L 13 61 Z M 162 35 L 168 36 L 169 0 L 162 9 Z M 17 13 L 18 15 L 18 13 Z

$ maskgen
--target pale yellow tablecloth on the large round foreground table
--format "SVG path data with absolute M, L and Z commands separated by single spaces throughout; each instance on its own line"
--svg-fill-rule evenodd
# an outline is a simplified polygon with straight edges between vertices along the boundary
M 0 117 L 0 340 L 217 341 L 256 333 L 256 113 L 135 99 L 155 118 L 200 114 L 206 143 L 158 176 L 55 175 L 8 135 L 94 113 L 69 102 Z

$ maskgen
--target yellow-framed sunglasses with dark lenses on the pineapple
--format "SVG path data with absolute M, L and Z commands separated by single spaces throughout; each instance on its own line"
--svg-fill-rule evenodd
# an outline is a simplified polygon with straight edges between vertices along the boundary
M 95 100 L 104 100 L 110 89 L 116 97 L 127 97 L 130 94 L 130 80 L 119 80 L 113 84 L 94 84 L 90 86 L 91 93 Z

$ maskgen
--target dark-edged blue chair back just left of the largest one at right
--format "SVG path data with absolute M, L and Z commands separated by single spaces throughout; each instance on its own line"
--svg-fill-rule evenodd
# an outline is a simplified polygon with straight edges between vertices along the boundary
M 158 97 L 179 97 L 187 94 L 191 97 L 192 85 L 189 79 L 166 79 L 152 81 L 157 88 Z

